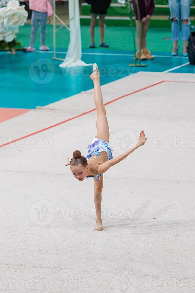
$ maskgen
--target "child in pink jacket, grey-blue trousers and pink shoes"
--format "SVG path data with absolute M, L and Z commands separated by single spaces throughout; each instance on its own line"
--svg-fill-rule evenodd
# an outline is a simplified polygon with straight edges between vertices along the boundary
M 30 34 L 30 45 L 29 47 L 25 47 L 26 52 L 34 52 L 35 48 L 33 48 L 37 28 L 40 22 L 40 31 L 41 31 L 41 46 L 40 50 L 49 51 L 49 47 L 45 46 L 45 36 L 46 36 L 46 24 L 47 24 L 47 16 L 48 23 L 51 22 L 51 16 L 53 14 L 52 5 L 49 0 L 29 0 L 29 8 L 32 9 L 32 17 L 31 17 L 31 34 Z

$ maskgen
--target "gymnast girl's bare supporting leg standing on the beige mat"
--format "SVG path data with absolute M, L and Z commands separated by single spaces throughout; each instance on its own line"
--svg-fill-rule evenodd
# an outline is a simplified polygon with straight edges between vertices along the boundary
M 102 226 L 102 218 L 101 218 L 102 189 L 103 189 L 103 176 L 100 177 L 99 182 L 97 182 L 96 179 L 94 181 L 94 203 L 96 208 L 97 227 Z M 102 230 L 101 227 L 99 228 L 99 230 Z

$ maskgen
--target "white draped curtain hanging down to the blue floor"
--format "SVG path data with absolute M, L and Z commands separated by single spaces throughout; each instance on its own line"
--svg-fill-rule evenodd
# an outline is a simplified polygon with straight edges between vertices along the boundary
M 69 0 L 69 19 L 70 20 L 70 43 L 65 60 L 59 65 L 60 67 L 87 66 L 81 60 L 81 29 L 79 0 Z

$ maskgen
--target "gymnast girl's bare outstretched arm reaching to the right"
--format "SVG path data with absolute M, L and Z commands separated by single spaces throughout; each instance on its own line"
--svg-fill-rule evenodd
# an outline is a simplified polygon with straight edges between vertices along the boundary
M 126 150 L 123 152 L 121 155 L 118 157 L 111 159 L 109 161 L 106 161 L 105 163 L 99 164 L 98 165 L 98 174 L 103 174 L 105 173 L 110 167 L 118 164 L 120 161 L 124 160 L 128 155 L 130 155 L 135 149 L 137 149 L 139 146 L 143 146 L 146 142 L 147 138 L 145 138 L 144 131 L 140 132 L 139 134 L 139 141 L 138 143 L 131 147 L 130 149 Z

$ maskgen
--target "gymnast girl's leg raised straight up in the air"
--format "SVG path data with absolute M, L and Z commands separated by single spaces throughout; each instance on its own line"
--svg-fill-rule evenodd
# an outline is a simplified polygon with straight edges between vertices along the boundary
M 95 75 L 95 77 L 94 77 Z M 94 77 L 94 79 L 93 79 Z M 108 126 L 108 120 L 106 117 L 106 109 L 103 103 L 103 98 L 102 98 L 102 91 L 100 87 L 100 76 L 99 76 L 99 71 L 98 67 L 93 73 L 90 75 L 90 78 L 93 80 L 94 84 L 94 102 L 96 105 L 96 110 L 97 110 L 97 121 L 96 121 L 96 138 L 103 139 L 106 142 L 109 143 L 110 139 L 110 131 L 109 131 L 109 126 Z

